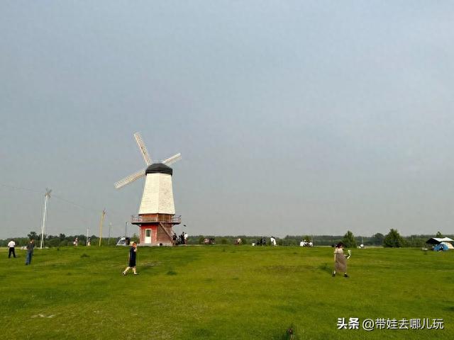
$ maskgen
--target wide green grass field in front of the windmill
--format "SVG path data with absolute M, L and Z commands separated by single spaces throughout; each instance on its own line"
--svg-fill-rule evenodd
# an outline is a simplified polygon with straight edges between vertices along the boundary
M 454 339 L 454 251 L 353 250 L 350 278 L 333 250 L 37 249 L 31 266 L 0 251 L 4 339 Z M 338 318 L 443 319 L 444 329 L 338 329 Z M 361 327 L 360 327 L 361 328 Z

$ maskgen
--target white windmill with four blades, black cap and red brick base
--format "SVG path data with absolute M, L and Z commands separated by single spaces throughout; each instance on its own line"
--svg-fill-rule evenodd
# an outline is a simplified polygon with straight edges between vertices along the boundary
M 131 223 L 139 226 L 140 245 L 172 244 L 172 225 L 179 225 L 181 216 L 175 215 L 173 170 L 169 165 L 182 156 L 175 154 L 162 162 L 153 163 L 140 133 L 135 132 L 134 137 L 148 167 L 116 182 L 115 188 L 119 189 L 145 176 L 139 213 L 133 215 Z

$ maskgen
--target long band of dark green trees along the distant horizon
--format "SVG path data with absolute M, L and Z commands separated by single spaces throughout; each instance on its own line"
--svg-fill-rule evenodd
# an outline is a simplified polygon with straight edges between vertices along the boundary
M 216 244 L 236 244 L 237 239 L 241 239 L 241 244 L 253 244 L 258 243 L 259 239 L 265 237 L 267 245 L 270 245 L 270 236 L 273 235 L 260 235 L 260 236 L 214 236 L 214 235 L 192 235 L 188 237 L 188 244 L 204 244 L 205 239 L 214 238 Z M 454 235 L 445 235 L 446 237 L 454 238 Z M 77 237 L 79 246 L 85 246 L 87 244 L 86 235 L 44 235 L 44 246 L 72 246 L 74 239 Z M 360 244 L 364 246 L 385 246 L 385 247 L 423 247 L 426 246 L 426 241 L 433 237 L 433 234 L 414 234 L 410 236 L 401 236 L 397 229 L 390 229 L 389 233 L 384 235 L 380 232 L 373 234 L 370 237 L 367 236 L 355 236 L 353 232 L 346 232 L 344 235 L 287 235 L 286 237 L 276 237 L 277 244 L 279 246 L 299 246 L 302 240 L 307 242 L 313 242 L 314 246 L 332 246 L 338 242 L 343 242 L 347 248 L 355 248 Z M 437 232 L 435 237 L 443 237 L 441 232 Z M 40 244 L 40 234 L 36 232 L 30 232 L 26 237 L 12 237 L 8 239 L 0 239 L 0 246 L 6 246 L 8 242 L 14 239 L 16 246 L 25 246 L 29 239 L 35 239 L 36 244 Z M 102 246 L 114 246 L 118 242 L 119 237 L 103 237 L 101 239 Z M 92 235 L 90 237 L 92 246 L 99 245 L 99 237 Z M 131 237 L 132 241 L 138 242 L 138 236 L 133 234 Z

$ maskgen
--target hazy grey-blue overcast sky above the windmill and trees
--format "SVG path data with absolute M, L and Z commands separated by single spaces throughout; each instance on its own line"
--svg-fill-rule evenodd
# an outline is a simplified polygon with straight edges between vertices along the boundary
M 182 152 L 189 234 L 453 233 L 453 26 L 452 1 L 1 1 L 0 237 L 45 188 L 49 234 L 103 208 L 122 234 L 136 131 Z

